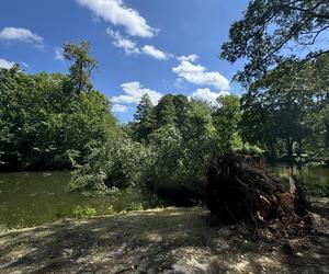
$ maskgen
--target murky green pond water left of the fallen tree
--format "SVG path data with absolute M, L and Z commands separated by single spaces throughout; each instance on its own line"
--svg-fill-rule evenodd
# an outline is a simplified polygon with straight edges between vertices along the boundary
M 115 207 L 110 197 L 67 192 L 70 178 L 70 172 L 0 173 L 0 227 L 30 227 L 75 217 L 78 206 L 94 208 L 98 215 L 109 213 L 110 205 Z M 132 198 L 126 197 L 127 203 Z

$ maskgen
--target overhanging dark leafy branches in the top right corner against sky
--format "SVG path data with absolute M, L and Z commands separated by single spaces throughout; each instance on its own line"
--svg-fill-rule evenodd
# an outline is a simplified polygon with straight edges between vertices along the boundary
M 328 28 L 328 1 L 252 0 L 243 19 L 231 25 L 220 56 L 230 62 L 248 60 L 236 80 L 249 85 L 284 57 L 291 57 L 287 48 L 299 47 L 304 60 L 329 53 L 317 44 Z

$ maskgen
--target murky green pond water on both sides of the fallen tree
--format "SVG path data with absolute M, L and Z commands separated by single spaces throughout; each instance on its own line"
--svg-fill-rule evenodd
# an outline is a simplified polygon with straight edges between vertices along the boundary
M 286 176 L 284 165 L 274 167 L 274 172 Z M 297 170 L 295 173 L 298 173 Z M 329 194 L 329 168 L 303 168 L 305 187 L 313 195 Z M 50 222 L 64 217 L 76 217 L 77 207 L 92 207 L 97 215 L 121 210 L 136 197 L 123 194 L 118 201 L 86 197 L 69 193 L 66 186 L 70 172 L 0 173 L 0 228 L 30 227 Z

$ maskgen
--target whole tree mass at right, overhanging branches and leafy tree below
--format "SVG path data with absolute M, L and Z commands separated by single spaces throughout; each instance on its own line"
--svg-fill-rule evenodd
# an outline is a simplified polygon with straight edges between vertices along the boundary
M 246 61 L 235 76 L 247 89 L 238 126 L 245 142 L 291 160 L 326 151 L 328 31 L 324 0 L 252 0 L 232 23 L 220 56 Z

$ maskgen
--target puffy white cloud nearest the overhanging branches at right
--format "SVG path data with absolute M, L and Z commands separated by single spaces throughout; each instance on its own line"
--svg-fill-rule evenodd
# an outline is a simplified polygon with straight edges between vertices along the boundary
M 179 78 L 184 79 L 190 83 L 198 85 L 211 85 L 218 90 L 229 89 L 229 81 L 219 72 L 207 71 L 205 67 L 202 67 L 201 65 L 194 65 L 189 60 L 182 59 L 180 65 L 173 68 L 172 71 L 177 73 Z

